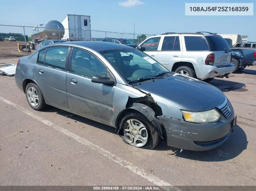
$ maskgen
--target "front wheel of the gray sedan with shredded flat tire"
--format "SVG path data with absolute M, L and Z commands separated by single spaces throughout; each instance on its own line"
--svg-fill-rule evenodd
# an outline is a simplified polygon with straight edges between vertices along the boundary
M 145 115 L 139 112 L 135 111 L 125 114 L 121 119 L 120 126 L 124 133 L 122 139 L 129 145 L 153 149 L 160 141 L 156 127 Z

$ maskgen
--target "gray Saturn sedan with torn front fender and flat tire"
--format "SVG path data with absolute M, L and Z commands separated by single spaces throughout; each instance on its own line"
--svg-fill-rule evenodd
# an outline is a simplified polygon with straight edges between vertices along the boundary
M 107 124 L 135 147 L 153 149 L 161 138 L 196 151 L 224 143 L 236 117 L 223 92 L 168 71 L 138 49 L 51 44 L 19 59 L 15 81 L 34 110 L 51 105 Z

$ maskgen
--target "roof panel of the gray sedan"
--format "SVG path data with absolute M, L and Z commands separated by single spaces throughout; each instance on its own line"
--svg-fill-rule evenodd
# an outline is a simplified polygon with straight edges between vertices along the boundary
M 108 43 L 102 41 L 71 41 L 71 42 L 64 42 L 61 43 L 62 46 L 77 46 L 77 47 L 87 47 L 93 49 L 97 52 L 103 50 L 113 50 L 113 49 L 133 49 L 133 47 L 118 44 L 118 43 Z M 50 46 L 60 46 L 58 43 L 51 44 Z M 49 47 L 49 46 L 48 46 Z

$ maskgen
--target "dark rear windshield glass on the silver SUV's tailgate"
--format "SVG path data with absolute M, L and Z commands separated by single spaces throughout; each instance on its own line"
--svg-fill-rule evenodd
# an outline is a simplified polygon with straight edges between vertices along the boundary
M 213 51 L 230 50 L 227 41 L 221 36 L 205 36 L 210 40 Z

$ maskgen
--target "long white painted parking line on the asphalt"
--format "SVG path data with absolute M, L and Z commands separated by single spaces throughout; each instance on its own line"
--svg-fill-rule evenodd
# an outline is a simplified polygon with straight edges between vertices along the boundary
M 165 187 L 162 187 L 165 190 L 181 191 L 180 189 L 172 186 L 171 184 L 165 182 L 164 180 L 161 180 L 161 179 L 159 179 L 158 177 L 155 177 L 152 174 L 145 173 L 145 171 L 143 169 L 140 169 L 139 167 L 136 167 L 135 165 L 131 164 L 130 162 L 125 161 L 124 159 L 116 156 L 115 154 L 112 154 L 111 152 L 105 150 L 104 148 L 101 148 L 100 146 L 95 145 L 92 142 L 90 142 L 90 141 L 88 141 L 88 140 L 86 140 L 84 138 L 79 137 L 75 133 L 72 133 L 72 132 L 68 131 L 67 129 L 64 129 L 64 128 L 60 127 L 60 126 L 55 126 L 54 123 L 52 123 L 52 122 L 50 122 L 50 121 L 48 121 L 46 119 L 43 119 L 40 116 L 35 115 L 34 113 L 30 112 L 29 110 L 26 110 L 25 108 L 23 108 L 21 106 L 18 106 L 17 104 L 12 103 L 11 101 L 6 100 L 3 97 L 0 97 L 0 100 L 2 100 L 5 103 L 8 103 L 9 105 L 12 105 L 13 107 L 17 108 L 18 110 L 21 110 L 22 112 L 24 112 L 27 115 L 37 119 L 38 121 L 44 123 L 45 125 L 48 125 L 48 126 L 52 127 L 53 129 L 56 129 L 59 132 L 64 133 L 65 135 L 68 135 L 69 137 L 71 137 L 71 138 L 75 139 L 76 141 L 78 141 L 78 142 L 88 146 L 90 149 L 93 149 L 93 150 L 97 151 L 101 155 L 109 158 L 110 160 L 116 162 L 117 164 L 119 164 L 119 165 L 121 165 L 123 167 L 126 167 L 129 170 L 135 172 L 136 174 L 138 174 L 141 177 L 147 179 L 148 181 L 154 183 L 155 185 L 157 185 L 157 186 L 165 186 Z

